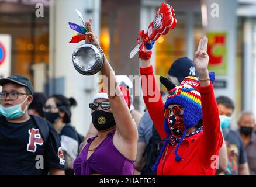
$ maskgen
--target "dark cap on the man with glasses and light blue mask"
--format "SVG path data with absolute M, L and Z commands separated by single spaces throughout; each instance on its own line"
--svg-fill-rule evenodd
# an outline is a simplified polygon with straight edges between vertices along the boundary
M 23 76 L 23 75 L 11 75 L 7 78 L 0 79 L 0 86 L 3 86 L 4 84 L 8 82 L 13 82 L 15 84 L 19 84 L 22 86 L 27 87 L 29 89 L 30 93 L 33 94 L 33 86 L 31 82 L 29 81 L 29 78 Z

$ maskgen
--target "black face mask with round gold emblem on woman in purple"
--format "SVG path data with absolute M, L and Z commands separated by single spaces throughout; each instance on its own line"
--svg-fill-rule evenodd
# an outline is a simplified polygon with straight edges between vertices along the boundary
M 92 124 L 98 130 L 106 130 L 115 126 L 116 122 L 112 112 L 105 112 L 103 110 L 95 110 L 92 112 Z

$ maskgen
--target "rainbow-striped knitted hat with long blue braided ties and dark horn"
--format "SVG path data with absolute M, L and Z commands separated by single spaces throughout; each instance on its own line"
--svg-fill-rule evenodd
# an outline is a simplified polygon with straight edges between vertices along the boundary
M 210 81 L 214 82 L 215 74 L 213 72 L 209 73 Z M 168 97 L 167 101 L 165 102 L 164 109 L 167 109 L 171 104 L 178 104 L 184 106 L 184 124 L 185 129 L 184 133 L 182 134 L 181 140 L 179 140 L 178 145 L 174 150 L 175 160 L 181 161 L 181 156 L 178 155 L 178 148 L 181 146 L 182 141 L 186 136 L 186 131 L 188 128 L 196 126 L 199 120 L 202 119 L 202 106 L 201 106 L 201 95 L 199 93 L 199 78 L 194 76 L 186 77 L 179 86 L 175 86 L 170 82 L 167 78 L 160 77 L 160 82 L 167 88 L 168 90 Z M 160 162 L 162 157 L 162 153 L 167 146 L 169 136 L 171 135 L 171 131 L 168 126 L 168 119 L 165 118 L 164 120 L 164 130 L 167 133 L 167 138 L 165 139 L 165 144 L 162 147 L 160 155 L 158 157 L 157 162 L 153 166 L 153 171 L 156 171 L 157 165 Z

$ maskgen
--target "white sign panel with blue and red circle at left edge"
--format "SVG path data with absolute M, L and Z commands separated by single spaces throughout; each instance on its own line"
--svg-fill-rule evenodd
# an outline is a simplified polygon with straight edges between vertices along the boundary
M 10 75 L 11 50 L 11 36 L 9 34 L 0 34 L 0 78 Z

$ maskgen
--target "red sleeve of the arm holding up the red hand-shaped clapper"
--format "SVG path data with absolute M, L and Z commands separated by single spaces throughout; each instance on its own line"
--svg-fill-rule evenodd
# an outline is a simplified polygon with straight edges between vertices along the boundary
M 155 81 L 152 65 L 140 68 L 141 88 L 143 99 L 148 113 L 162 139 L 166 138 L 164 131 L 164 103 L 162 102 L 160 90 Z

